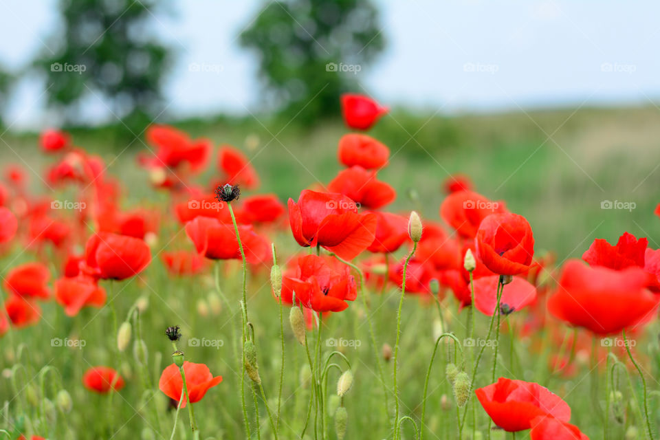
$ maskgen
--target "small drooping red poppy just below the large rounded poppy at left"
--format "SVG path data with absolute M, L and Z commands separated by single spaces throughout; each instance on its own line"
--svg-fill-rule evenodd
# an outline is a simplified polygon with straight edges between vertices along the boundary
M 103 307 L 105 290 L 91 276 L 59 278 L 55 281 L 55 300 L 67 316 L 76 316 L 83 307 Z

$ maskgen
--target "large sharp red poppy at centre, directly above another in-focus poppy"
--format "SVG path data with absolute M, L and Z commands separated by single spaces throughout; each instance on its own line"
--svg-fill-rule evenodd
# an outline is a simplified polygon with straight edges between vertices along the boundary
M 289 223 L 301 246 L 321 245 L 342 259 L 353 259 L 369 248 L 377 217 L 358 214 L 358 207 L 341 194 L 303 190 L 298 203 L 289 199 Z

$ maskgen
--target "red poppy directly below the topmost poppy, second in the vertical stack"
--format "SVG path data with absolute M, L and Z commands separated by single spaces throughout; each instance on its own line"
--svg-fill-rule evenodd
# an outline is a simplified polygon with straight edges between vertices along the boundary
M 371 136 L 349 133 L 339 140 L 337 156 L 339 162 L 345 166 L 357 165 L 373 170 L 387 165 L 390 148 Z

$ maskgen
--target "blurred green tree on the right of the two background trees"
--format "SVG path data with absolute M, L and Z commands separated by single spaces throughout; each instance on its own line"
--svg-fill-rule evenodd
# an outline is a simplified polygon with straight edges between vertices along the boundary
M 259 54 L 265 104 L 303 123 L 338 115 L 339 95 L 384 47 L 369 0 L 274 1 L 240 38 Z

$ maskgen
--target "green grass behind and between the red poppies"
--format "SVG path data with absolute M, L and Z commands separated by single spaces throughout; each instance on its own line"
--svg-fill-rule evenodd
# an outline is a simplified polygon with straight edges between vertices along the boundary
M 476 189 L 491 199 L 502 199 L 513 212 L 525 215 L 533 228 L 536 250 L 552 250 L 561 262 L 578 257 L 595 238 L 616 241 L 624 231 L 636 236 L 648 236 L 650 247 L 658 248 L 660 219 L 652 213 L 660 201 L 657 182 L 660 170 L 660 118 L 654 108 L 580 109 L 533 111 L 498 115 L 465 115 L 454 118 L 393 113 L 373 131 L 373 135 L 391 148 L 391 164 L 382 170 L 380 179 L 388 181 L 398 192 L 391 210 L 418 210 L 421 217 L 439 219 L 438 208 L 444 197 L 441 182 L 451 173 L 465 173 Z M 256 120 L 184 121 L 176 124 L 193 137 L 209 137 L 216 144 L 239 146 L 252 158 L 262 185 L 259 192 L 275 192 L 283 201 L 297 199 L 300 190 L 316 181 L 327 182 L 340 169 L 336 162 L 336 145 L 346 129 L 339 123 L 322 124 L 303 131 L 291 124 Z M 100 154 L 110 164 L 109 172 L 121 177 L 126 188 L 126 207 L 153 206 L 162 198 L 148 188 L 144 170 L 138 168 L 135 153 L 146 149 L 140 140 L 113 137 L 108 129 L 74 130 L 75 143 Z M 0 144 L 0 163 L 21 164 L 30 168 L 32 188 L 43 189 L 42 170 L 47 159 L 38 153 L 36 136 L 29 133 L 5 133 Z M 210 177 L 211 173 L 203 176 Z M 413 194 L 411 197 L 410 194 Z M 65 197 L 65 196 L 63 196 Z M 603 201 L 635 203 L 632 210 L 603 209 Z M 169 231 L 163 235 L 154 254 L 172 241 L 176 247 L 186 243 L 183 232 Z M 278 253 L 283 259 L 298 247 L 290 234 L 274 237 Z M 15 250 L 3 256 L 3 274 L 19 263 L 30 261 L 28 253 Z M 400 253 L 399 253 L 400 254 Z M 53 271 L 60 262 L 52 261 Z M 219 286 L 230 298 L 221 311 L 208 311 L 209 295 L 215 292 L 214 278 L 209 272 L 195 279 L 175 279 L 166 274 L 159 261 L 154 261 L 142 275 L 122 283 L 105 283 L 113 307 L 121 322 L 138 298 L 148 298 L 149 305 L 140 318 L 140 335 L 134 328 L 133 338 L 141 337 L 148 347 L 148 364 L 136 362 L 131 349 L 116 353 L 115 333 L 111 326 L 111 307 L 83 309 L 75 318 L 67 318 L 55 303 L 43 305 L 43 320 L 36 327 L 11 331 L 2 340 L 3 356 L 0 365 L 0 403 L 2 422 L 12 428 L 24 417 L 26 432 L 40 433 L 50 439 L 168 439 L 172 429 L 173 410 L 167 410 L 166 397 L 157 390 L 157 380 L 164 367 L 170 364 L 170 342 L 163 335 L 167 325 L 181 325 L 184 338 L 181 349 L 186 359 L 208 364 L 214 375 L 222 375 L 223 382 L 212 388 L 206 397 L 195 404 L 195 415 L 202 439 L 242 439 L 243 415 L 239 401 L 241 371 L 236 356 L 236 329 L 240 329 L 237 302 L 241 295 L 241 270 L 238 263 L 221 263 Z M 280 316 L 277 303 L 270 294 L 269 268 L 250 276 L 248 305 L 258 341 L 261 378 L 270 408 L 276 407 L 281 367 Z M 358 298 L 347 311 L 333 314 L 323 329 L 322 350 L 333 350 L 327 338 L 360 341 L 359 347 L 344 348 L 350 360 L 355 383 L 344 398 L 349 412 L 347 439 L 385 439 L 391 437 L 392 398 L 385 408 L 385 393 L 380 384 L 380 371 L 373 360 L 373 348 L 366 314 L 374 316 L 375 349 L 380 352 L 384 343 L 395 344 L 396 313 L 399 292 L 388 289 L 384 295 L 369 294 L 369 309 Z M 455 301 L 446 298 L 442 311 L 432 303 L 416 298 L 404 302 L 401 340 L 401 386 L 403 415 L 419 421 L 424 376 L 433 351 L 434 335 L 443 325 L 445 331 L 456 333 L 459 339 L 467 336 L 467 314 L 460 313 Z M 201 313 L 201 311 L 203 313 Z M 281 439 L 299 438 L 309 408 L 309 383 L 300 380 L 300 371 L 307 362 L 305 350 L 294 340 L 287 324 L 288 310 L 284 310 L 285 382 L 281 419 Z M 525 315 L 514 316 L 516 327 Z M 442 324 L 441 324 L 442 322 Z M 489 318 L 478 314 L 477 334 L 485 334 Z M 654 322 L 648 334 L 655 335 L 659 325 Z M 314 340 L 313 333 L 308 337 Z M 538 354 L 531 352 L 542 341 L 549 340 L 547 332 L 533 338 L 516 338 L 516 346 L 509 344 L 507 335 L 501 337 L 502 362 L 498 375 L 535 380 L 558 393 L 573 409 L 571 423 L 579 426 L 591 439 L 602 438 L 602 419 L 595 416 L 595 402 L 604 406 L 606 399 L 604 365 L 597 383 L 592 382 L 588 362 L 578 362 L 571 377 L 553 377 L 547 359 L 557 349 L 546 346 Z M 85 347 L 52 347 L 52 338 L 85 340 Z M 220 347 L 190 347 L 191 338 L 221 340 Z M 640 351 L 657 353 L 657 340 L 643 338 Z M 538 348 L 538 347 L 537 347 Z M 454 439 L 456 408 L 452 391 L 445 380 L 447 352 L 440 346 L 429 381 L 426 408 L 425 437 Z M 646 360 L 648 362 L 648 360 Z M 659 377 L 657 359 L 645 363 L 654 377 Z M 338 362 L 335 358 L 333 362 Z M 386 385 L 391 387 L 392 362 L 382 362 Z M 487 350 L 483 369 L 476 385 L 485 386 L 490 380 L 492 354 Z M 115 395 L 93 395 L 80 383 L 84 371 L 92 365 L 111 365 L 120 369 L 127 385 Z M 468 362 L 469 365 L 469 362 Z M 43 373 L 42 368 L 54 369 Z M 344 365 L 342 364 L 342 369 Z M 513 371 L 511 371 L 513 370 Z M 41 371 L 41 373 L 40 373 Z M 329 373 L 329 394 L 333 393 L 338 371 Z M 631 371 L 631 375 L 632 375 Z M 593 374 L 592 374 L 593 376 Z M 632 375 L 635 391 L 641 382 Z M 659 389 L 657 383 L 652 389 Z M 74 410 L 69 414 L 52 415 L 43 406 L 43 397 L 54 399 L 65 388 L 73 397 Z M 250 419 L 254 420 L 252 394 L 246 386 L 250 404 Z M 628 402 L 623 423 L 612 422 L 613 439 L 624 438 L 628 426 L 639 427 L 634 396 L 621 379 L 621 391 Z M 259 392 L 257 390 L 257 392 Z M 593 394 L 595 393 L 595 394 Z M 443 396 L 448 397 L 447 408 Z M 597 395 L 599 397 L 588 397 Z M 329 399 L 333 400 L 333 399 Z M 272 438 L 267 412 L 261 398 L 259 413 L 263 426 L 262 437 Z M 473 399 L 474 401 L 474 399 Z M 326 424 L 334 439 L 331 408 L 326 408 Z M 505 438 L 494 430 L 488 434 L 488 419 L 481 406 L 467 408 L 468 428 L 465 438 Z M 598 404 L 598 408 L 600 405 Z M 651 411 L 658 419 L 657 401 L 651 401 Z M 462 414 L 462 410 L 461 410 Z M 473 419 L 474 417 L 474 419 Z M 192 438 L 187 430 L 187 414 L 181 412 L 177 438 Z M 418 423 L 419 424 L 419 423 Z M 253 423 L 254 426 L 254 423 Z M 475 437 L 472 434 L 478 432 Z M 403 438 L 412 439 L 412 429 L 404 426 Z M 253 432 L 254 434 L 254 432 Z M 306 438 L 314 438 L 311 428 Z M 509 434 L 507 434 L 508 436 Z M 480 437 L 477 437 L 480 436 Z M 254 436 L 253 436 L 254 437 Z M 524 433 L 516 439 L 528 438 Z M 320 438 L 320 435 L 319 435 Z M 507 437 L 508 438 L 508 437 Z M 628 438 L 628 437 L 626 437 Z

